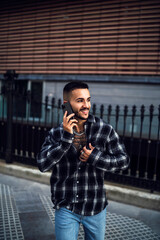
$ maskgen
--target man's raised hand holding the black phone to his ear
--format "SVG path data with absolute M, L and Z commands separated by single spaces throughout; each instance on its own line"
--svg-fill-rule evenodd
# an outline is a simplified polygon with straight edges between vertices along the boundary
M 67 116 L 67 111 L 65 111 L 63 116 L 63 129 L 69 133 L 73 134 L 73 127 L 77 127 L 77 120 L 74 117 L 74 113 Z

